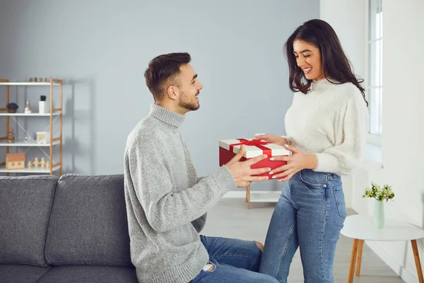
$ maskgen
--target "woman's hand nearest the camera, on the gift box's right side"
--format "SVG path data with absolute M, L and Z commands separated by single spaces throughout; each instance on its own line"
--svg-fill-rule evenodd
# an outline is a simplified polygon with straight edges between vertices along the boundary
M 281 181 L 290 180 L 290 178 L 303 169 L 314 169 L 317 167 L 317 156 L 305 154 L 295 146 L 284 145 L 288 151 L 293 152 L 291 156 L 273 156 L 269 158 L 271 161 L 286 161 L 287 164 L 274 168 L 269 174 L 275 174 L 273 179 Z M 281 173 L 278 173 L 281 172 Z M 278 173 L 278 174 L 276 174 Z

